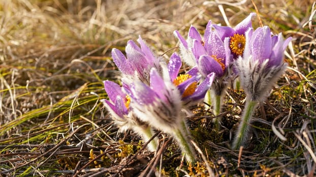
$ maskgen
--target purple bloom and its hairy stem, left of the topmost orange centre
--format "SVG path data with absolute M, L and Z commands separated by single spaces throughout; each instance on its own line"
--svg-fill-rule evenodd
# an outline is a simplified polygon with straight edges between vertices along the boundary
M 191 66 L 198 68 L 202 76 L 209 73 L 215 74 L 215 79 L 211 90 L 206 94 L 204 101 L 213 106 L 213 114 L 220 113 L 223 93 L 225 93 L 228 82 L 228 68 L 231 64 L 233 55 L 229 48 L 230 38 L 219 36 L 214 30 L 211 21 L 208 22 L 203 39 L 198 30 L 191 26 L 188 31 L 187 39 L 174 31 L 174 35 L 180 41 L 180 51 L 184 61 Z M 208 106 L 206 106 L 208 108 Z M 217 129 L 220 127 L 220 118 L 214 119 Z

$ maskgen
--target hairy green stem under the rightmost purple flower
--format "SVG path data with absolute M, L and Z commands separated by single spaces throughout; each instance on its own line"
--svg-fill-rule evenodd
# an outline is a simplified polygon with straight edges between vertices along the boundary
M 243 114 L 241 117 L 241 122 L 238 125 L 237 134 L 233 142 L 233 149 L 239 149 L 240 146 L 242 146 L 247 139 L 249 123 L 258 103 L 258 101 L 253 101 L 247 98 L 245 109 L 243 110 Z

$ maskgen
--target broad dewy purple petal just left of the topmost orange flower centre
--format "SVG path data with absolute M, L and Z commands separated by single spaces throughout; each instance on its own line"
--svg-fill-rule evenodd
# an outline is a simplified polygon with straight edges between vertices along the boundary
M 216 58 L 225 59 L 224 41 L 220 39 L 216 32 L 211 31 L 210 35 L 205 41 L 204 47 L 209 56 L 216 56 Z

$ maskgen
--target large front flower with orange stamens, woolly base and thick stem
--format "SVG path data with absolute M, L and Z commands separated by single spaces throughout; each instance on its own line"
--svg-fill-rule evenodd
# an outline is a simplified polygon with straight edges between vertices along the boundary
M 124 87 L 125 92 L 131 97 L 131 107 L 135 114 L 149 125 L 172 135 L 185 153 L 187 161 L 194 161 L 195 153 L 183 108 L 204 98 L 214 74 L 206 76 L 200 84 L 196 69 L 178 75 L 181 59 L 176 53 L 171 56 L 168 66 L 165 63 L 161 65 L 163 76 L 156 68 L 151 68 L 149 85 L 140 80 L 135 81 Z

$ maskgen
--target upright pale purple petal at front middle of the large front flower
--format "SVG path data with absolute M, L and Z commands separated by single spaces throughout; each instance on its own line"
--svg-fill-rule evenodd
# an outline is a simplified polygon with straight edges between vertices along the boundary
M 165 96 L 166 84 L 164 79 L 159 75 L 155 68 L 150 70 L 150 88 L 157 94 L 159 98 L 167 101 Z

